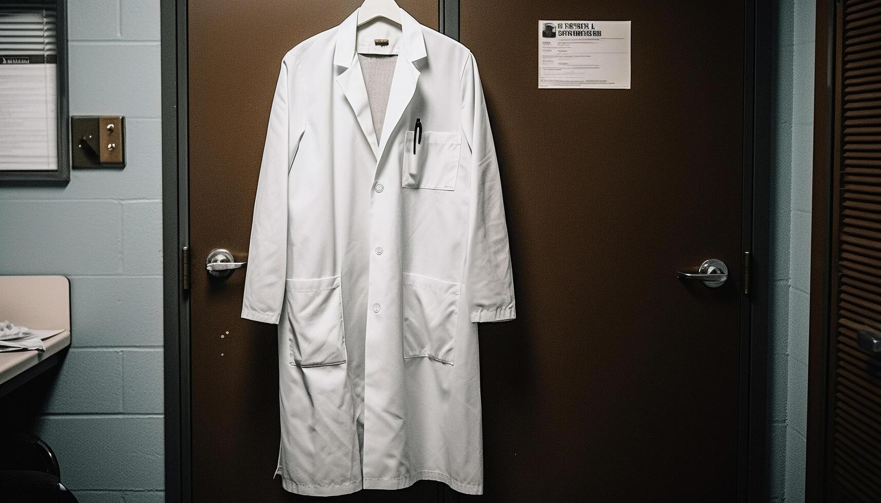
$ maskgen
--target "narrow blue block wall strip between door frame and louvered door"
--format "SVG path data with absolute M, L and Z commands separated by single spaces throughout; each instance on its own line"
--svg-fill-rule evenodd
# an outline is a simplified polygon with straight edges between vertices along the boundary
M 767 499 L 804 500 L 811 262 L 814 0 L 778 0 Z

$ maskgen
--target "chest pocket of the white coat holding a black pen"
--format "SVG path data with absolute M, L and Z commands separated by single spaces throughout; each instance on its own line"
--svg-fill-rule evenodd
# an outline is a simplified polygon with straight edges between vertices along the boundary
M 411 189 L 455 190 L 459 172 L 462 133 L 425 131 L 413 153 L 413 131 L 403 136 L 401 187 Z

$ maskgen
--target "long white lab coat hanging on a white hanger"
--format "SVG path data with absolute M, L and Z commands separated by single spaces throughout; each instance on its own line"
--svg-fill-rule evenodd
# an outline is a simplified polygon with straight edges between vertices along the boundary
M 241 315 L 278 323 L 290 492 L 483 492 L 477 322 L 515 317 L 499 167 L 474 56 L 401 14 L 356 51 L 352 13 L 278 76 Z M 398 55 L 380 138 L 364 51 Z

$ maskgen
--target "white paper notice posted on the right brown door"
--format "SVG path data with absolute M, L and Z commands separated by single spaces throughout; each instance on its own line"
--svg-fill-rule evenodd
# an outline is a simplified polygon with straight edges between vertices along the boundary
M 538 21 L 539 89 L 630 89 L 630 21 Z

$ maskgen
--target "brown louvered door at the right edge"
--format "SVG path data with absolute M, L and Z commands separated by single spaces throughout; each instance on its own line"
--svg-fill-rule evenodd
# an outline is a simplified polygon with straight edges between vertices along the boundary
M 827 12 L 833 18 L 826 18 Z M 834 29 L 827 32 L 823 28 L 830 21 Z M 816 258 L 811 270 L 806 496 L 808 501 L 874 503 L 881 501 L 881 16 L 877 3 L 819 2 L 817 33 L 820 85 L 811 249 Z M 834 37 L 831 59 L 825 58 L 826 33 Z M 832 62 L 831 68 L 826 61 Z M 833 77 L 830 88 L 821 78 L 825 70 L 831 70 Z M 832 107 L 819 106 L 825 100 L 831 100 Z M 825 155 L 827 149 L 831 155 Z M 825 234 L 830 215 L 831 232 Z M 828 324 L 823 320 L 826 313 Z

